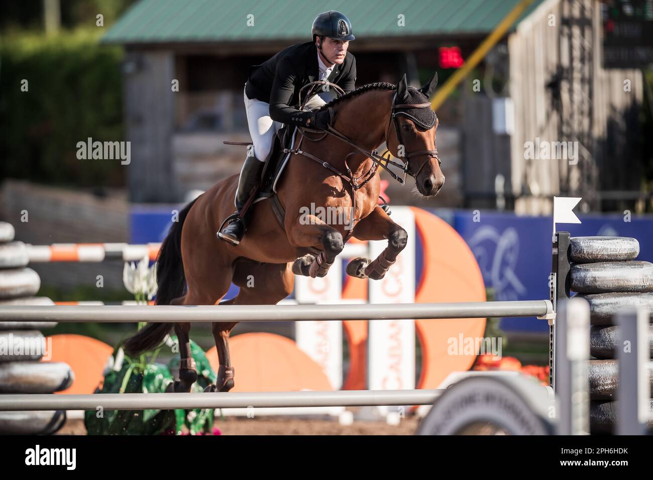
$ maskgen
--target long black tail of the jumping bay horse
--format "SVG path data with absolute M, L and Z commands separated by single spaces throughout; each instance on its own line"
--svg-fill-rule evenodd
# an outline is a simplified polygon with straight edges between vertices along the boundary
M 161 244 L 159 257 L 157 257 L 157 305 L 170 305 L 172 300 L 185 293 L 186 277 L 183 273 L 182 261 L 182 228 L 189 210 L 196 201 L 197 199 L 193 200 L 179 212 L 178 221 L 172 223 L 168 236 Z M 138 355 L 142 351 L 156 347 L 163 342 L 172 325 L 172 323 L 148 323 L 123 342 L 125 352 L 129 355 Z

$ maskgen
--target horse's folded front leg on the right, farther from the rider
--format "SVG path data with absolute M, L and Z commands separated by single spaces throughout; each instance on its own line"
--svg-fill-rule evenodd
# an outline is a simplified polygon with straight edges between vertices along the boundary
M 354 227 L 353 236 L 359 240 L 388 240 L 388 246 L 374 260 L 358 257 L 347 264 L 347 274 L 358 278 L 381 280 L 394 263 L 397 255 L 406 248 L 407 232 L 390 219 L 385 210 L 377 206 Z

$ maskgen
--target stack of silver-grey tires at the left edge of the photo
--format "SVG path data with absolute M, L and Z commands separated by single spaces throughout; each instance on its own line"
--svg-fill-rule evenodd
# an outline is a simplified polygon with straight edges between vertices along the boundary
M 27 268 L 29 253 L 14 241 L 14 227 L 0 222 L 0 305 L 52 305 L 35 296 L 37 272 Z M 63 362 L 48 362 L 42 328 L 53 322 L 0 322 L 0 394 L 54 393 L 72 385 L 74 375 Z M 46 346 L 46 348 L 43 348 Z M 0 434 L 53 434 L 65 423 L 65 411 L 0 411 Z

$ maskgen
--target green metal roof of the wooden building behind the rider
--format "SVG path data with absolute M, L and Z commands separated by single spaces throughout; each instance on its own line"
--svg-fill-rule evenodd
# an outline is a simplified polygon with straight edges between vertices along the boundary
M 542 0 L 534 0 L 522 18 Z M 340 10 L 357 37 L 486 34 L 519 0 L 141 0 L 103 42 L 247 42 L 310 40 L 321 12 Z M 248 15 L 253 26 L 247 26 Z M 406 26 L 398 25 L 398 15 Z

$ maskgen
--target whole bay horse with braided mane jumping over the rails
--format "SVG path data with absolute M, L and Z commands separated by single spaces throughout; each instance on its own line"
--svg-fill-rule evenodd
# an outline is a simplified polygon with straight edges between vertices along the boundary
M 383 278 L 406 246 L 407 232 L 378 205 L 377 167 L 389 170 L 388 163 L 402 167 L 404 181 L 406 174 L 413 176 L 420 195 L 438 193 L 445 181 L 436 150 L 438 119 L 426 101 L 437 81 L 435 74 L 421 89 L 415 89 L 407 86 L 404 75 L 396 86 L 368 84 L 322 106 L 332 108 L 332 125 L 328 131 L 300 129 L 302 138 L 295 139 L 291 160 L 279 180 L 283 225 L 272 201 L 266 199 L 252 205 L 256 221 L 238 246 L 216 237 L 221 222 L 233 211 L 238 175 L 225 178 L 187 204 L 159 252 L 156 304 L 277 304 L 293 292 L 295 274 L 325 276 L 351 236 L 388 241 L 376 259 L 358 257 L 346 268 L 347 274 L 358 278 Z M 316 133 L 323 136 L 311 137 Z M 378 155 L 376 149 L 383 142 L 404 165 Z M 352 211 L 354 218 L 349 225 L 330 225 L 318 215 L 300 213 L 311 205 Z M 221 301 L 232 282 L 240 287 L 238 295 Z M 229 334 L 235 325 L 212 324 L 219 368 L 216 384 L 205 391 L 224 392 L 234 386 Z M 161 344 L 172 327 L 181 364 L 179 380 L 171 383 L 168 391 L 190 392 L 197 380 L 190 323 L 150 323 L 125 340 L 125 351 L 135 355 Z

